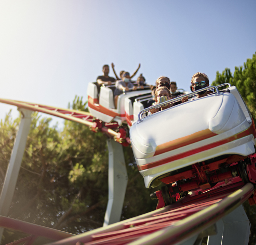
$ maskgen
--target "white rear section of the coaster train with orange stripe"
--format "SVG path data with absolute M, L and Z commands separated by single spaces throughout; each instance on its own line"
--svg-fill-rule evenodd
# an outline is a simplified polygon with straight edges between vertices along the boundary
M 103 122 L 117 122 L 119 126 L 124 121 L 128 126 L 137 120 L 138 113 L 146 108 L 147 101 L 152 99 L 149 86 L 136 91 L 124 92 L 118 96 L 117 108 L 114 106 L 114 85 L 98 87 L 96 82 L 89 83 L 88 107 L 90 113 Z M 99 91 L 99 96 L 98 96 Z

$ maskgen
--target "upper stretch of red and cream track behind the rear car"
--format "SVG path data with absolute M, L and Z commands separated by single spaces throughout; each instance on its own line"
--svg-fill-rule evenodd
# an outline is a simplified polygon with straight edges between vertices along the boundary
M 31 111 L 38 111 L 46 113 L 52 116 L 57 116 L 66 120 L 73 122 L 82 123 L 83 125 L 89 126 L 91 130 L 97 132 L 102 131 L 109 137 L 114 137 L 114 139 L 127 146 L 130 143 L 129 137 L 126 137 L 126 131 L 122 128 L 118 129 L 118 132 L 114 131 L 112 128 L 117 128 L 117 123 L 102 123 L 100 120 L 94 118 L 89 112 L 63 109 L 59 107 L 45 106 L 41 104 L 22 102 L 18 100 L 0 99 L 0 103 L 9 104 L 12 106 L 17 106 L 18 108 L 24 108 Z

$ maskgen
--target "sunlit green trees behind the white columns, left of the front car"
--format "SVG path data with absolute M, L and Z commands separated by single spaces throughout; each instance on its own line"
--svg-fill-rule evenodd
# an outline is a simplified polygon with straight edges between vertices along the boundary
M 86 103 L 75 97 L 74 110 L 86 111 Z M 65 121 L 58 131 L 51 119 L 32 114 L 32 122 L 16 190 L 8 216 L 38 225 L 79 234 L 101 227 L 108 203 L 107 137 L 82 124 Z M 10 112 L 0 124 L 0 183 L 10 161 L 20 118 Z M 128 188 L 122 219 L 154 210 L 156 203 L 144 187 L 130 147 L 124 148 Z M 24 234 L 4 231 L 2 242 Z

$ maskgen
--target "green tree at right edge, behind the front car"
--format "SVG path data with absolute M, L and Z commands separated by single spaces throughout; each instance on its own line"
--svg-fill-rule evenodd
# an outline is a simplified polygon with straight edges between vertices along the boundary
M 236 66 L 234 75 L 229 68 L 225 68 L 222 73 L 217 72 L 212 85 L 222 83 L 230 83 L 237 87 L 256 122 L 256 53 L 252 55 L 252 59 L 247 59 L 244 67 Z

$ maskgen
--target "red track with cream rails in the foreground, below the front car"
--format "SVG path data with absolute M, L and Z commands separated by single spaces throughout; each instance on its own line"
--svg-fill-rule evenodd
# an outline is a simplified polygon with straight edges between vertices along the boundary
M 251 183 L 244 185 L 239 181 L 225 185 L 223 181 L 222 188 L 213 188 L 196 196 L 187 195 L 172 205 L 77 236 L 7 217 L 0 217 L 0 226 L 35 237 L 56 239 L 57 233 L 67 237 L 48 245 L 75 245 L 76 242 L 83 242 L 85 245 L 157 245 L 167 241 L 168 244 L 176 244 L 216 223 L 240 206 L 253 192 L 255 189 Z M 31 238 L 33 239 L 31 236 L 23 239 Z

